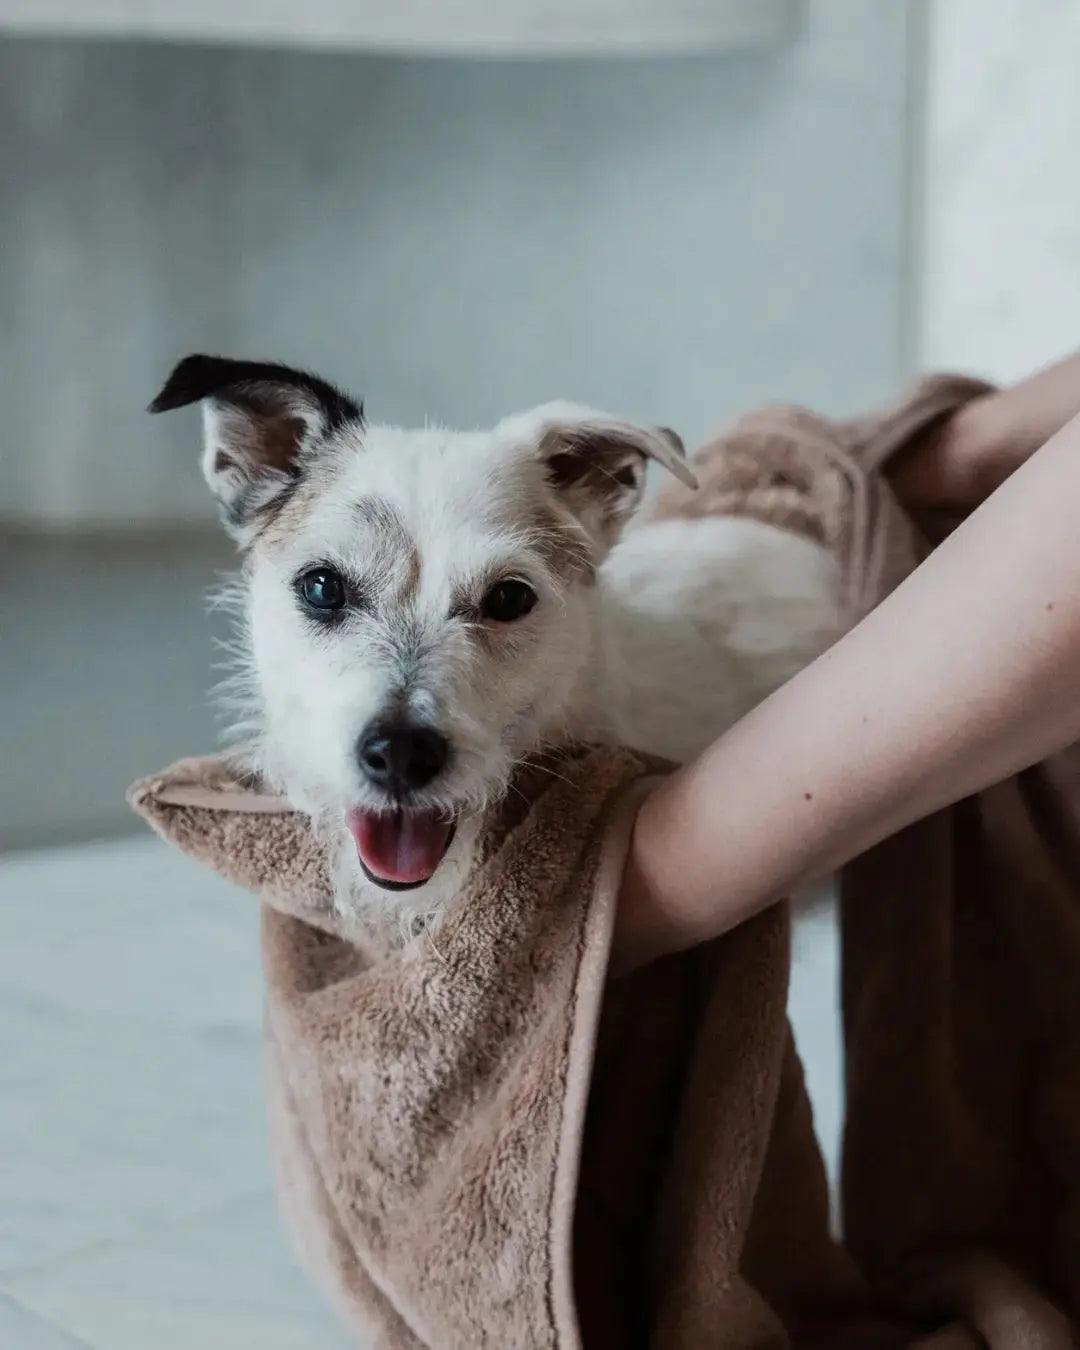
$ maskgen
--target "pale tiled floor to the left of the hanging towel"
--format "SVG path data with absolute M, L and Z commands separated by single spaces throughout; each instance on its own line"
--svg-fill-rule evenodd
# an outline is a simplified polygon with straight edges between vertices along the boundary
M 263 1143 L 255 903 L 153 838 L 0 859 L 0 1346 L 339 1350 Z

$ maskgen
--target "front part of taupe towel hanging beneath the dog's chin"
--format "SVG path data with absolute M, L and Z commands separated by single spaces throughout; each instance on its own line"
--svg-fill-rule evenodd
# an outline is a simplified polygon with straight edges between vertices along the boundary
M 223 761 L 132 790 L 266 902 L 281 1203 L 375 1346 L 748 1350 L 859 1312 L 787 1030 L 786 910 L 605 998 L 648 771 L 597 749 L 526 772 L 406 944 L 346 925 L 306 821 Z

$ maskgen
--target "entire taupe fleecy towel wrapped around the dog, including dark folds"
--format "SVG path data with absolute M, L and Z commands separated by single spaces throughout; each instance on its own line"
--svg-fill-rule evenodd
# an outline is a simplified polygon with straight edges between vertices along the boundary
M 741 418 L 659 517 L 833 549 L 852 618 L 930 544 L 887 466 L 987 386 Z M 940 526 L 938 526 L 940 528 Z M 333 906 L 306 819 L 228 757 L 132 788 L 263 902 L 267 1084 L 297 1251 L 379 1350 L 1068 1350 L 1080 1311 L 1080 760 L 842 878 L 841 1247 L 786 1018 L 786 906 L 606 975 L 662 765 L 525 768 L 435 934 Z

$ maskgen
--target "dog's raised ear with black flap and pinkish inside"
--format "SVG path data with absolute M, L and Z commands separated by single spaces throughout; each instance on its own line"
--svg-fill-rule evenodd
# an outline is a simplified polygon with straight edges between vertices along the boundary
M 290 366 L 186 356 L 151 413 L 202 404 L 202 474 L 225 528 L 242 543 L 298 481 L 304 459 L 332 431 L 363 423 L 363 405 Z

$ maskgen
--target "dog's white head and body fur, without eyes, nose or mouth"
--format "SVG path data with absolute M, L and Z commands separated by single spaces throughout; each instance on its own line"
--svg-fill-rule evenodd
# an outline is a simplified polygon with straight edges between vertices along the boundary
M 608 554 L 597 513 L 548 482 L 539 440 L 552 418 L 599 418 L 653 454 L 655 433 L 566 408 L 493 432 L 350 428 L 319 451 L 288 531 L 277 525 L 251 547 L 243 605 L 255 753 L 335 841 L 344 906 L 436 911 L 468 867 L 479 814 L 524 757 L 583 738 L 686 760 L 837 632 L 830 558 L 787 532 L 729 518 L 641 524 Z M 404 544 L 387 545 L 358 514 L 371 498 L 400 518 Z M 552 566 L 531 524 L 537 505 L 576 532 L 599 564 L 595 583 Z M 364 589 L 364 605 L 333 630 L 313 629 L 293 589 L 317 563 Z M 454 612 L 455 597 L 479 598 L 500 576 L 526 579 L 539 603 L 481 634 L 477 620 Z M 363 878 L 343 825 L 350 807 L 385 806 L 355 747 L 402 698 L 452 747 L 416 805 L 459 822 L 432 880 L 404 896 Z

